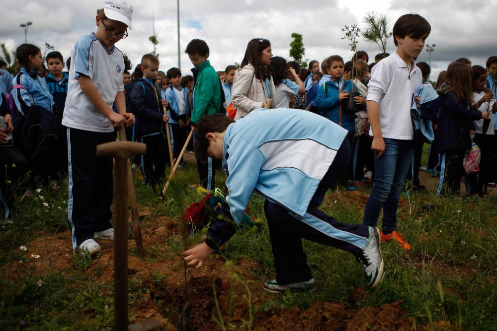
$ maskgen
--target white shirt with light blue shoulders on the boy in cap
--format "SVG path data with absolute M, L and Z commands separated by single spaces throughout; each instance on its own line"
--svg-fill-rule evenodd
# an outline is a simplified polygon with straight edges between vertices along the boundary
M 112 108 L 117 92 L 124 90 L 123 71 L 124 58 L 119 49 L 107 50 L 93 33 L 82 36 L 71 53 L 62 125 L 93 132 L 112 132 L 112 124 L 84 95 L 78 78 L 80 75 L 90 77 L 98 93 Z

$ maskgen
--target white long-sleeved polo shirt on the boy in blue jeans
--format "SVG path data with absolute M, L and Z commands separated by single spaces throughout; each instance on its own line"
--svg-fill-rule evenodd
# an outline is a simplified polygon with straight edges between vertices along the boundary
M 422 82 L 421 70 L 415 63 L 410 72 L 396 52 L 373 66 L 367 100 L 376 101 L 379 105 L 380 128 L 384 138 L 414 138 L 411 106 L 414 92 Z M 369 134 L 373 134 L 371 130 Z

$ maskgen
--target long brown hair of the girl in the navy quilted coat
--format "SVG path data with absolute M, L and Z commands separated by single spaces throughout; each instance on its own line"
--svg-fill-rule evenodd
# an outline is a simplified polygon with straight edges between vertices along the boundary
M 473 100 L 472 76 L 471 68 L 463 63 L 452 63 L 447 69 L 446 84 L 465 106 Z

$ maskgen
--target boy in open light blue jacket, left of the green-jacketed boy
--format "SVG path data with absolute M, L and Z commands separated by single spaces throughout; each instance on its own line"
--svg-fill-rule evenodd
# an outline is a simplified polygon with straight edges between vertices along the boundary
M 173 155 L 177 159 L 186 141 L 186 131 L 190 125 L 190 105 L 186 88 L 181 85 L 181 70 L 170 68 L 166 74 L 170 86 L 166 89 L 165 98 L 169 102 L 169 126 L 172 132 Z M 182 160 L 179 166 L 185 166 Z

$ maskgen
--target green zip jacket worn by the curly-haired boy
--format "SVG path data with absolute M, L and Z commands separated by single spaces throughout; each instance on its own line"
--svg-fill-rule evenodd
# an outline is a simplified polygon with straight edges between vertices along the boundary
M 193 86 L 193 110 L 191 114 L 192 125 L 198 124 L 202 116 L 220 112 L 221 87 L 219 76 L 211 66 L 209 60 L 193 68 L 192 72 L 197 78 Z

